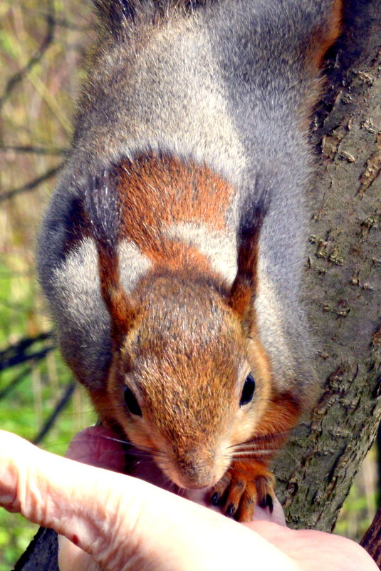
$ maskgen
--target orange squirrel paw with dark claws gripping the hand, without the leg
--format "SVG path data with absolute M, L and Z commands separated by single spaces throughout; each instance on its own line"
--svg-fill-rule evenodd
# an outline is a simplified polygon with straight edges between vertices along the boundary
M 261 463 L 234 462 L 212 488 L 212 504 L 222 505 L 228 518 L 251 521 L 257 503 L 273 511 L 274 481 L 273 474 Z

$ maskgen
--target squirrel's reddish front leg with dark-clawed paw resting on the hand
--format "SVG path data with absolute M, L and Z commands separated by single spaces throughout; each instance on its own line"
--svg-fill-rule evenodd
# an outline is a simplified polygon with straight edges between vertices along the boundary
M 236 459 L 211 494 L 212 504 L 223 505 L 225 515 L 247 522 L 253 518 L 256 504 L 273 510 L 275 478 L 268 464 L 296 426 L 299 414 L 300 406 L 291 394 L 276 396 L 254 438 L 235 447 Z

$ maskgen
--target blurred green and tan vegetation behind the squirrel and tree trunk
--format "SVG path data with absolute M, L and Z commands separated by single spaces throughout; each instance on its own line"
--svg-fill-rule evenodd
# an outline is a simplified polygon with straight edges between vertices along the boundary
M 2 0 L 0 22 L 0 427 L 61 454 L 94 415 L 77 387 L 40 440 L 73 379 L 54 349 L 34 251 L 71 137 L 78 67 L 92 36 L 90 9 L 78 0 Z M 375 513 L 376 479 L 373 451 L 338 533 L 358 540 L 365 532 Z M 34 533 L 36 526 L 0 511 L 0 571 L 9 571 Z

